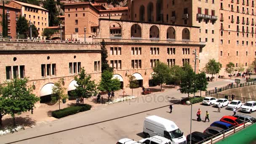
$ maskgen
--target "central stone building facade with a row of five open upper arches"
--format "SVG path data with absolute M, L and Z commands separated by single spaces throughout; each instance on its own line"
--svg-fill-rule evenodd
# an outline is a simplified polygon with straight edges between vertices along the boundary
M 193 51 L 196 50 L 196 55 L 199 55 L 200 49 L 205 46 L 197 39 L 199 27 L 115 19 L 99 19 L 99 25 L 99 37 L 93 40 L 101 42 L 104 39 L 107 60 L 114 68 L 114 77 L 119 78 L 124 86 L 128 84 L 128 75 L 133 75 L 140 86 L 148 87 L 155 61 L 169 66 L 182 66 L 187 61 L 194 67 Z M 196 67 L 198 71 L 199 65 Z

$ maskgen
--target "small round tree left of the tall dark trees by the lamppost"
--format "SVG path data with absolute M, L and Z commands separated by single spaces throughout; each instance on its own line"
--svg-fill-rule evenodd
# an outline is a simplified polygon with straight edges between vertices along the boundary
M 171 66 L 170 74 L 171 74 L 171 80 L 174 81 L 174 88 L 175 88 L 176 81 L 181 80 L 181 77 L 184 74 L 184 71 L 183 71 L 182 67 L 180 67 L 178 65 L 173 65 L 173 66 Z

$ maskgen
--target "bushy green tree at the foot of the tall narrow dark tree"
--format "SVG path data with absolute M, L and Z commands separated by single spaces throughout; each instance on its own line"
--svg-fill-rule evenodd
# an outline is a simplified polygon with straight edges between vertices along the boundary
M 118 91 L 120 90 L 121 83 L 117 78 L 113 79 L 113 73 L 105 70 L 101 74 L 101 82 L 98 89 L 100 91 Z

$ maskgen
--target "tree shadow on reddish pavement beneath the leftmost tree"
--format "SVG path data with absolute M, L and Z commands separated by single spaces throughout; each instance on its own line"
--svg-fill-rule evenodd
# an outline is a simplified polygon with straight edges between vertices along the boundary
M 2 121 L 3 127 L 5 126 L 13 126 L 13 118 L 6 118 Z M 15 123 L 16 125 L 24 125 L 25 127 L 32 127 L 33 125 L 36 125 L 36 121 L 33 120 L 31 117 L 15 117 Z

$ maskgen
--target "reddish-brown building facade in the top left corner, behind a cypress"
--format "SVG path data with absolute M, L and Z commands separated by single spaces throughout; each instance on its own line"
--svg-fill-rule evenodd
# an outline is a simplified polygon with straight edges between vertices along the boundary
M 0 3 L 0 14 L 3 14 L 3 4 Z M 8 16 L 8 36 L 11 38 L 16 38 L 16 21 L 21 14 L 21 9 L 14 8 L 10 5 L 5 4 L 5 14 Z M 0 21 L 2 22 L 3 17 L 0 16 Z M 0 24 L 0 33 L 3 33 L 2 24 Z

